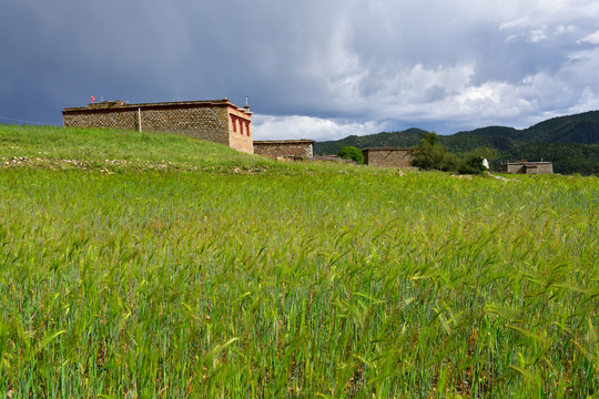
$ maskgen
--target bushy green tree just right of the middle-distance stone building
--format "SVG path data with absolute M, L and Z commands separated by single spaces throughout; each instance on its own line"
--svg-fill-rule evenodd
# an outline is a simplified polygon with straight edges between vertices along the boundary
M 412 165 L 425 171 L 455 171 L 458 167 L 458 160 L 439 143 L 435 132 L 427 133 L 420 144 L 412 150 Z

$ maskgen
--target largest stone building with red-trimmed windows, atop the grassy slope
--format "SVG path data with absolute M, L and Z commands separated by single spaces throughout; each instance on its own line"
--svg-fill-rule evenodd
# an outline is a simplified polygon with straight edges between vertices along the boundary
M 129 129 L 169 132 L 253 153 L 252 112 L 227 99 L 129 104 L 103 101 L 62 111 L 65 127 Z

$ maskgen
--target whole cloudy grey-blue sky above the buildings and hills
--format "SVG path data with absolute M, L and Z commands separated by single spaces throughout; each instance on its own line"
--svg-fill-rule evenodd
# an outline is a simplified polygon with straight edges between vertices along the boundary
M 0 123 L 248 98 L 255 140 L 599 110 L 597 0 L 2 0 Z

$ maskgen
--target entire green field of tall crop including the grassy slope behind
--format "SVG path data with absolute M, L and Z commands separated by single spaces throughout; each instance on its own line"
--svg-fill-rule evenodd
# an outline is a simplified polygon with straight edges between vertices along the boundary
M 0 398 L 599 396 L 599 178 L 0 125 Z

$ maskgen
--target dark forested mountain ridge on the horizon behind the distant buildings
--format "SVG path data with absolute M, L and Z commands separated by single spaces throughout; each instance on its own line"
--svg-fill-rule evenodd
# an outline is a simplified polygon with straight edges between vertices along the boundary
M 403 132 L 384 132 L 364 136 L 352 135 L 338 141 L 316 142 L 316 154 L 336 154 L 342 147 L 414 146 L 426 135 L 420 129 Z M 556 173 L 599 175 L 599 111 L 554 117 L 528 129 L 487 126 L 468 132 L 439 136 L 440 143 L 451 153 L 465 155 L 479 149 L 498 151 L 500 161 L 546 160 L 554 162 Z

